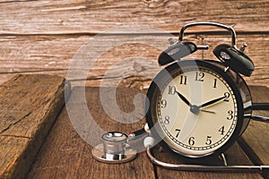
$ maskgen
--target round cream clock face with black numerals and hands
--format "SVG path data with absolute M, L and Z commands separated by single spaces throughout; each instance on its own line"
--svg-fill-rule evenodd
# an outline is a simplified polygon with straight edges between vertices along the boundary
M 162 79 L 159 89 L 152 119 L 170 149 L 190 157 L 207 156 L 221 149 L 237 131 L 237 94 L 213 68 L 178 68 Z

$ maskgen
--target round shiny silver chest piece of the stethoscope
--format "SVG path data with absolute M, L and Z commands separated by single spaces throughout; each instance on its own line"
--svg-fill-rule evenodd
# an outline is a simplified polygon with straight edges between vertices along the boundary
M 103 143 L 91 150 L 93 158 L 110 164 L 126 163 L 136 157 L 136 150 L 127 144 L 128 137 L 121 132 L 105 132 L 101 136 Z

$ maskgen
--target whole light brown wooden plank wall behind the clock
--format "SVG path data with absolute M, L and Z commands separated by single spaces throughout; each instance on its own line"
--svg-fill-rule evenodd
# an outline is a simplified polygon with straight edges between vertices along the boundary
M 161 69 L 157 64 L 161 50 L 135 40 L 113 47 L 113 40 L 124 41 L 131 36 L 149 41 L 158 39 L 169 45 L 167 38 L 158 31 L 109 30 L 122 25 L 147 25 L 177 38 L 181 27 L 194 21 L 217 21 L 232 26 L 237 31 L 239 46 L 247 43 L 245 52 L 256 64 L 252 77 L 246 78 L 247 83 L 269 86 L 269 4 L 263 0 L 0 0 L 0 83 L 15 73 L 65 76 L 78 50 L 104 31 L 108 33 L 102 40 L 112 48 L 92 66 L 87 85 L 100 85 L 105 72 L 115 64 L 116 73 L 111 79 L 120 80 L 125 86 L 148 83 L 152 73 Z M 204 33 L 195 34 L 197 31 Z M 188 30 L 186 39 L 209 43 L 206 58 L 213 58 L 215 45 L 230 43 L 227 33 L 209 28 Z M 97 43 L 96 48 L 89 50 L 94 53 L 101 48 Z M 131 65 L 121 63 L 137 55 L 150 59 L 152 64 L 135 60 L 130 61 Z M 117 75 L 117 72 L 126 73 Z

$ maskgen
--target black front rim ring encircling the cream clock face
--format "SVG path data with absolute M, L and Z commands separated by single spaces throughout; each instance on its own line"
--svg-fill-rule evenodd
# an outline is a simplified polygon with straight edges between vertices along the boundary
M 156 111 L 156 105 L 158 102 L 158 98 L 155 98 L 155 97 L 158 97 L 159 94 L 161 93 L 161 89 L 159 89 L 159 86 L 157 83 L 158 82 L 161 83 L 161 87 L 163 87 L 167 81 L 166 80 L 165 82 L 161 82 L 161 80 L 163 80 L 165 78 L 162 75 L 167 74 L 167 72 L 169 72 L 169 75 L 173 76 L 173 74 L 181 71 L 181 67 L 193 65 L 194 63 L 198 67 L 202 66 L 202 67 L 205 67 L 205 68 L 219 74 L 221 76 L 221 78 L 223 78 L 223 80 L 228 83 L 228 85 L 230 86 L 230 89 L 233 91 L 235 99 L 236 99 L 237 107 L 238 107 L 237 108 L 238 121 L 237 121 L 237 124 L 236 124 L 234 131 L 232 132 L 232 134 L 230 136 L 230 139 L 228 141 L 226 141 L 224 144 L 222 144 L 219 149 L 215 149 L 212 152 L 202 154 L 202 155 L 189 155 L 189 154 L 182 153 L 176 149 L 169 147 L 169 145 L 161 139 L 159 132 L 157 132 L 156 129 L 153 127 L 154 122 L 152 120 L 152 111 L 153 111 L 153 113 L 154 113 L 154 111 Z M 220 66 L 223 68 L 221 69 Z M 175 62 L 173 64 L 170 64 L 166 68 L 162 69 L 161 72 L 159 72 L 156 75 L 156 77 L 152 80 L 150 88 L 147 91 L 148 100 L 146 100 L 146 108 L 148 110 L 146 111 L 145 118 L 146 118 L 147 124 L 149 125 L 149 127 L 151 129 L 152 136 L 155 139 L 157 139 L 157 141 L 160 142 L 161 147 L 163 147 L 164 149 L 168 149 L 169 151 L 172 151 L 173 153 L 176 153 L 176 154 L 183 156 L 183 157 L 186 157 L 186 158 L 205 158 L 208 156 L 220 155 L 221 153 L 223 153 L 224 151 L 229 149 L 230 146 L 239 138 L 242 131 L 245 130 L 245 129 L 242 130 L 243 125 L 244 125 L 244 107 L 243 107 L 243 101 L 242 101 L 242 98 L 241 98 L 241 95 L 239 92 L 239 87 L 237 86 L 237 84 L 233 80 L 233 78 L 231 77 L 232 73 L 234 73 L 234 75 L 237 75 L 237 76 L 239 76 L 239 74 L 237 74 L 236 72 L 233 72 L 231 70 L 224 72 L 224 70 L 223 70 L 224 68 L 225 68 L 225 66 L 223 64 L 218 63 L 218 62 L 213 61 L 213 60 L 203 60 L 203 61 L 199 60 L 199 59 L 183 60 L 183 61 L 179 61 L 179 62 Z M 244 80 L 243 80 L 243 82 L 247 86 L 247 84 Z M 154 98 L 155 98 L 155 100 L 154 100 Z M 155 116 L 153 116 L 153 117 L 155 117 L 155 121 L 158 120 L 158 116 L 157 116 L 156 112 L 155 112 Z M 246 126 L 246 128 L 247 128 L 247 126 Z M 166 136 L 166 134 L 165 134 L 165 136 Z

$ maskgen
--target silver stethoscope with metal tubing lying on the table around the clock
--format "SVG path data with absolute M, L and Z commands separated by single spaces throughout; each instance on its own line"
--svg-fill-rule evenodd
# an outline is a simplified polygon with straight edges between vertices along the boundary
M 256 120 L 261 120 L 260 116 Z M 262 120 L 269 123 L 269 118 L 262 117 Z M 181 170 L 181 171 L 258 171 L 265 172 L 269 170 L 269 166 L 229 166 L 226 162 L 224 154 L 221 154 L 223 166 L 203 166 L 203 165 L 178 165 L 163 162 L 152 155 L 152 147 L 155 145 L 155 140 L 152 137 L 151 131 L 147 124 L 144 128 L 129 135 L 122 132 L 105 132 L 101 136 L 99 145 L 91 150 L 92 157 L 100 162 L 108 164 L 120 164 L 133 160 L 137 151 L 129 144 L 129 141 L 133 141 L 137 136 L 145 136 L 143 139 L 143 146 L 146 149 L 146 153 L 151 162 L 157 166 L 165 167 L 168 169 Z

